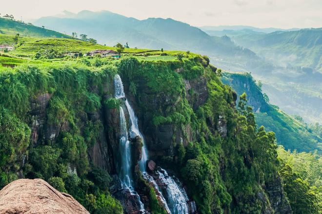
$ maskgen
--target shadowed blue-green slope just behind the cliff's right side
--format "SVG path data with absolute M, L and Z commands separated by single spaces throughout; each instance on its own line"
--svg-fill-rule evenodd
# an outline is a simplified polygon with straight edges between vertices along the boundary
M 322 154 L 322 139 L 314 135 L 308 127 L 292 118 L 279 107 L 264 100 L 260 89 L 249 73 L 224 73 L 223 82 L 236 90 L 238 95 L 246 93 L 248 103 L 254 108 L 256 122 L 274 131 L 279 144 L 285 149 Z

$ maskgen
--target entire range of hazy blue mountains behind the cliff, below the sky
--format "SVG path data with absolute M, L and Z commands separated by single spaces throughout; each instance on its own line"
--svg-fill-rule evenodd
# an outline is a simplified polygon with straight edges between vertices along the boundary
M 321 122 L 322 29 L 193 27 L 171 18 L 128 18 L 109 11 L 64 11 L 35 25 L 86 34 L 101 44 L 126 42 L 132 48 L 187 50 L 206 54 L 227 71 L 251 71 L 272 104 L 306 121 Z M 202 31 L 204 30 L 204 31 Z M 211 32 L 219 32 L 216 35 Z M 310 112 L 310 113 L 307 113 Z

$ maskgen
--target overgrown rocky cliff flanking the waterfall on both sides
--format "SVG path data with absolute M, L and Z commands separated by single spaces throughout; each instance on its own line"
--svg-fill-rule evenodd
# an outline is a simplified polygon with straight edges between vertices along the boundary
M 274 133 L 257 130 L 252 112 L 235 108 L 236 94 L 221 83 L 207 57 L 139 58 L 1 68 L 0 185 L 44 178 L 92 214 L 120 214 L 120 202 L 111 195 L 127 197 L 125 212 L 140 209 L 139 195 L 145 210 L 164 213 L 160 195 L 141 176 L 137 138 L 129 139 L 128 173 L 138 195 L 121 191 L 119 140 L 121 120 L 131 121 L 128 102 L 149 159 L 180 179 L 199 213 L 290 214 Z M 117 73 L 127 99 L 114 98 Z

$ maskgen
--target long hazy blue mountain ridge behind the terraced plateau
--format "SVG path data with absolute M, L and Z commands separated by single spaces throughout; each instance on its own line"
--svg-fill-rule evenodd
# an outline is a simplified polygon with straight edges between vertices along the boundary
M 171 18 L 138 20 L 109 11 L 81 11 L 78 14 L 64 12 L 60 17 L 40 18 L 34 23 L 67 34 L 86 34 L 106 45 L 128 42 L 130 47 L 257 58 L 256 54 L 236 46 L 226 37 L 209 36 L 199 28 Z

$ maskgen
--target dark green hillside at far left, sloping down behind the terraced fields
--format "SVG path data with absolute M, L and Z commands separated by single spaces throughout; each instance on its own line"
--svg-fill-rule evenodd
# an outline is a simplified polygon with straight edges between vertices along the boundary
M 0 34 L 34 37 L 70 38 L 70 36 L 7 18 L 0 18 Z

